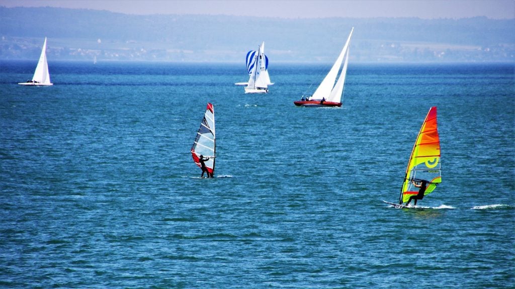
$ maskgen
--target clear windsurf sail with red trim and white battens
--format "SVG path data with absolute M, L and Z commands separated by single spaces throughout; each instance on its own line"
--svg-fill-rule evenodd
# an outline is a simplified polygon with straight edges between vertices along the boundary
M 208 177 L 210 175 L 213 176 L 216 158 L 215 111 L 213 104 L 209 102 L 205 109 L 202 122 L 200 123 L 200 128 L 197 131 L 197 136 L 193 142 L 191 153 L 193 161 L 200 168 L 202 168 L 200 156 L 204 158 L 209 157 L 208 160 L 204 161 L 204 164 L 205 168 L 208 170 Z

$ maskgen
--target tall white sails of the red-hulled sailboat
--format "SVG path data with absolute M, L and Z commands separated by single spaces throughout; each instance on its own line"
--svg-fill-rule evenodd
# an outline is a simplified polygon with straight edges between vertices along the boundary
M 331 102 L 341 101 L 341 95 L 344 91 L 345 76 L 347 74 L 347 65 L 349 62 L 349 44 L 351 41 L 353 31 L 354 27 L 352 27 L 351 33 L 349 34 L 349 38 L 347 39 L 344 48 L 341 49 L 340 55 L 336 59 L 336 62 L 333 64 L 333 67 L 331 67 L 331 70 L 329 70 L 327 76 L 325 76 L 325 78 L 322 80 L 322 82 L 316 89 L 315 93 L 313 93 L 311 100 L 325 99 L 325 101 Z M 344 66 L 341 69 L 340 77 L 338 78 L 338 81 L 335 84 L 334 82 L 336 81 L 336 77 L 338 76 L 341 63 L 344 61 L 344 57 Z

